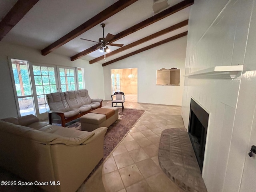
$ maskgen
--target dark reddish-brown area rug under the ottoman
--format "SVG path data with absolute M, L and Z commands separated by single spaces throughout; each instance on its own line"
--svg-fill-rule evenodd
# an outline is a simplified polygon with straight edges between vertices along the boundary
M 118 111 L 118 120 L 114 122 L 111 126 L 108 127 L 108 130 L 104 137 L 104 156 L 102 160 L 98 163 L 98 165 L 94 168 L 91 174 L 86 178 L 86 181 L 92 176 L 92 174 L 97 170 L 97 168 L 104 162 L 104 160 L 108 157 L 108 155 L 114 150 L 114 148 L 118 145 L 118 143 L 128 134 L 130 129 L 134 126 L 134 124 L 140 119 L 140 117 L 144 114 L 145 110 L 137 110 L 137 109 L 124 109 L 122 112 L 122 108 Z M 75 122 L 68 128 L 74 128 L 77 130 L 81 130 L 81 123 Z

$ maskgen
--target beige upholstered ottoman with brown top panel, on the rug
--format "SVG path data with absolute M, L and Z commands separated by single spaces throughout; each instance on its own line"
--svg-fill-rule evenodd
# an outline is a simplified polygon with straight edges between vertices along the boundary
M 93 131 L 99 127 L 109 127 L 112 123 L 118 120 L 118 108 L 104 106 L 102 107 L 103 114 L 100 114 L 100 109 L 101 108 L 98 108 L 80 117 L 82 131 Z M 111 110 L 104 109 L 112 109 L 112 112 Z M 105 115 L 104 111 L 109 112 L 107 115 Z

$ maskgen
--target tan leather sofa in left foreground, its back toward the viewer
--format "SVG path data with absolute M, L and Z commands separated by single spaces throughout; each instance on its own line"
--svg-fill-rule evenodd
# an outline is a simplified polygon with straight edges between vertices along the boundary
M 49 192 L 75 192 L 103 157 L 107 128 L 92 132 L 39 122 L 33 115 L 0 120 L 0 166 Z M 49 185 L 49 182 L 60 185 Z

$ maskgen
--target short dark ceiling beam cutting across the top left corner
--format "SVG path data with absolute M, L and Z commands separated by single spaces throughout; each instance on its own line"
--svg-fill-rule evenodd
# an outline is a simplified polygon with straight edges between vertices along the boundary
M 0 41 L 39 0 L 18 0 L 0 22 Z

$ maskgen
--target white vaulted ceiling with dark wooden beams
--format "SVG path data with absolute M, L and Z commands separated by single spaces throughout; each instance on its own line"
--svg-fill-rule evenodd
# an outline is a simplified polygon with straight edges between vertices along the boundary
M 111 64 L 133 54 L 186 36 L 194 0 L 2 0 L 0 40 L 40 50 Z M 104 59 L 99 52 L 100 24 L 110 42 Z M 80 38 L 96 42 L 84 41 Z

